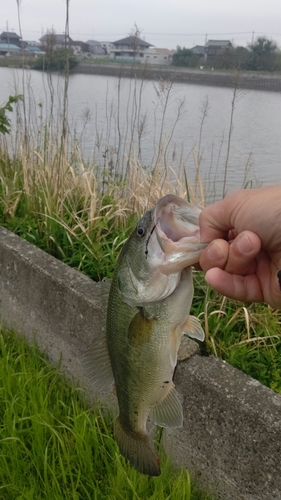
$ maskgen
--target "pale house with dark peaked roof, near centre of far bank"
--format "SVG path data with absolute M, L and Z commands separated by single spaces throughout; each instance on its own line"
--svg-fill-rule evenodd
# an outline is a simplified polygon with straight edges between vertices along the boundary
M 141 38 L 130 35 L 113 42 L 110 58 L 116 61 L 142 62 L 144 53 L 149 47 L 152 47 L 151 43 L 147 43 L 145 40 L 141 40 Z

